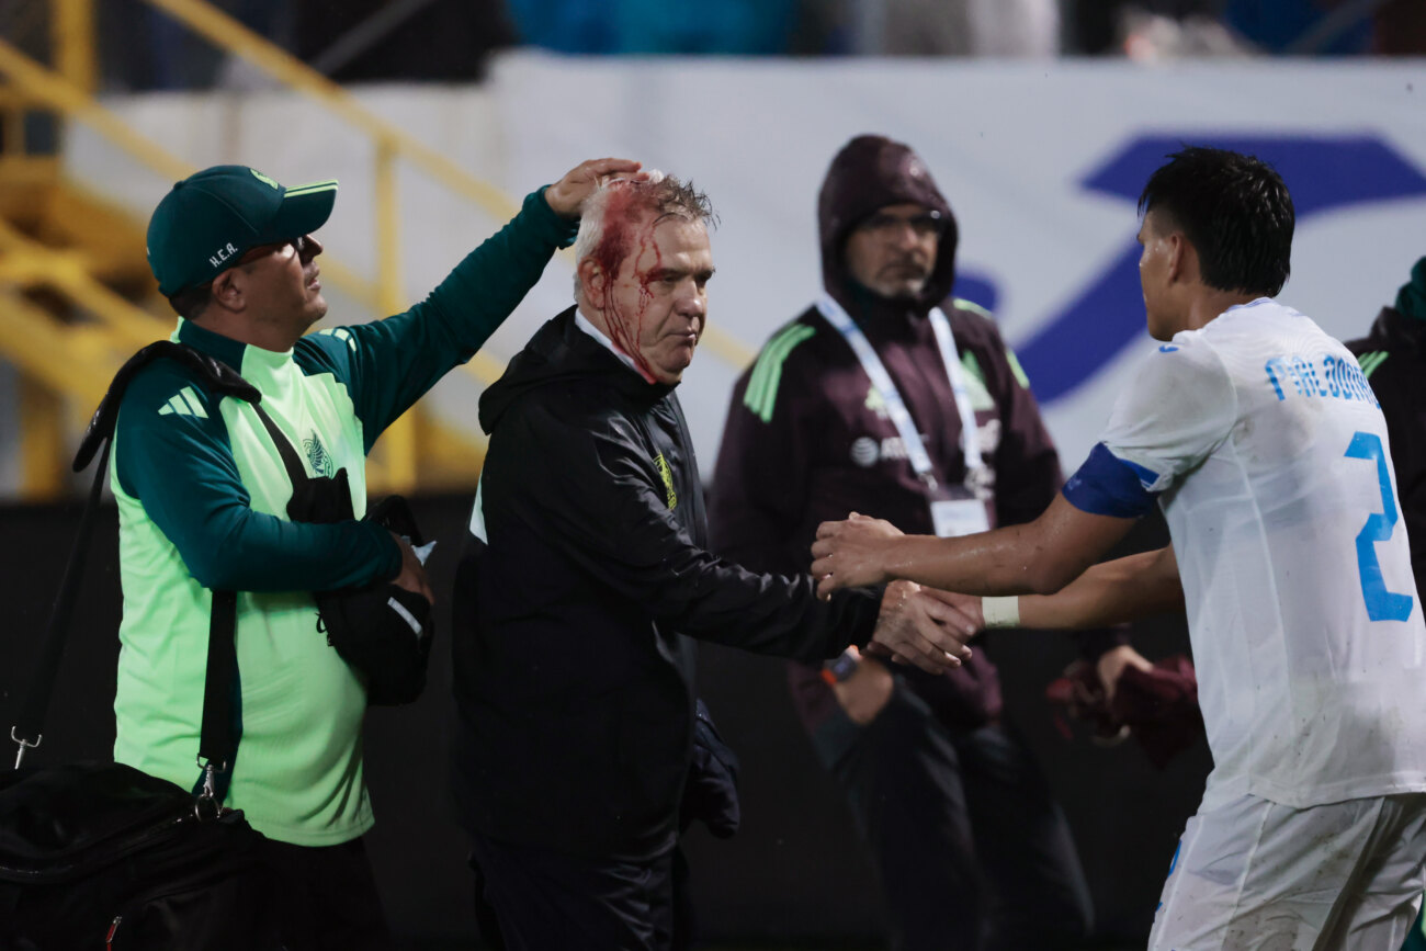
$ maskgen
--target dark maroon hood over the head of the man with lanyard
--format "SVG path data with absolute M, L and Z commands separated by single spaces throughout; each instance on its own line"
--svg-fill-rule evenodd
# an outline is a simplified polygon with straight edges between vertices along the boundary
M 930 170 L 910 145 L 884 135 L 857 135 L 831 160 L 817 197 L 817 225 L 821 232 L 821 282 L 850 314 L 857 314 L 858 292 L 843 259 L 847 234 L 866 217 L 903 202 L 915 202 L 941 212 L 945 232 L 935 267 L 921 291 L 923 311 L 944 301 L 955 282 L 955 215 Z M 867 291 L 860 291 L 860 295 Z

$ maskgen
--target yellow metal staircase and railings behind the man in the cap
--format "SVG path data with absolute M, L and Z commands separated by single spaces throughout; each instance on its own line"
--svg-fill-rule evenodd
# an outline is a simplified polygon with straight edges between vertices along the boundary
M 27 117 L 44 114 L 57 124 L 90 125 L 170 178 L 193 171 L 124 127 L 90 96 L 94 74 L 90 1 L 50 0 L 53 58 L 58 70 L 0 40 L 0 359 L 20 374 L 20 496 L 26 500 L 57 498 L 77 485 L 67 473 L 67 461 L 110 378 L 135 349 L 165 338 L 175 319 L 158 297 L 144 259 L 145 222 L 68 180 L 56 155 L 36 154 L 26 141 Z M 345 93 L 319 77 L 307 77 L 302 64 L 235 23 L 224 21 L 211 7 L 150 1 L 191 27 L 222 34 L 230 46 L 242 46 L 250 56 L 275 64 L 288 81 L 305 78 L 319 100 L 331 100 L 328 106 L 352 121 L 374 124 Z M 378 178 L 385 180 L 376 195 L 378 214 L 394 220 L 392 170 L 399 147 L 416 151 L 426 163 L 443 160 L 418 144 L 395 141 L 389 130 L 376 131 L 391 140 L 382 141 L 378 157 Z M 451 168 L 443 171 L 451 175 Z M 468 195 L 473 192 L 486 204 L 509 204 L 496 190 L 463 173 L 453 177 Z M 402 307 L 395 228 L 378 231 L 386 247 L 375 284 L 339 261 L 324 261 L 329 279 L 365 302 L 374 315 Z M 489 381 L 499 369 L 483 359 L 472 372 Z M 394 423 L 382 443 L 385 448 L 379 448 L 368 469 L 375 490 L 471 489 L 483 459 L 483 446 L 472 436 L 421 408 Z

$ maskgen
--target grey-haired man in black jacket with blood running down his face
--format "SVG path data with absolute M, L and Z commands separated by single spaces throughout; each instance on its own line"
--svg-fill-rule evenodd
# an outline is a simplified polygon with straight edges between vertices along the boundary
M 674 388 L 707 319 L 710 218 L 704 195 L 657 173 L 597 191 L 578 304 L 481 399 L 491 448 L 455 596 L 455 776 L 479 904 L 508 948 L 683 947 L 680 826 L 737 821 L 693 693 L 697 640 L 809 662 L 874 642 L 928 670 L 970 656 L 941 626 L 965 619 L 914 586 L 820 602 L 806 573 L 707 550 Z

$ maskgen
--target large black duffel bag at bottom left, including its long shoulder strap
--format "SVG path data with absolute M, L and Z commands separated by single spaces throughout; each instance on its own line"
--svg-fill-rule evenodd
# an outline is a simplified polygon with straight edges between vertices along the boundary
M 124 386 L 147 364 L 171 358 L 195 369 L 214 394 L 261 399 L 231 369 L 197 351 L 160 342 L 114 378 L 80 445 L 84 469 L 103 445 L 98 472 L 70 552 L 40 660 L 10 737 L 13 773 L 0 776 L 0 948 L 4 951 L 275 951 L 262 836 L 222 807 L 237 753 L 232 714 L 237 599 L 212 593 L 208 667 L 198 744 L 201 781 L 184 790 L 121 763 L 21 768 L 40 744 L 50 693 L 84 570 L 108 441 Z M 195 780 L 198 767 L 195 766 Z

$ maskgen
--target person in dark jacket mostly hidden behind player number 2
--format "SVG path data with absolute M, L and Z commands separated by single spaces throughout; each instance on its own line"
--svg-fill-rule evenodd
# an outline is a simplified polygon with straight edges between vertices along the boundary
M 1416 590 L 1426 590 L 1426 258 L 1396 294 L 1396 307 L 1383 307 L 1366 336 L 1346 341 L 1362 365 L 1386 416 L 1392 469 L 1400 496 L 1406 542 L 1412 553 Z M 1426 914 L 1426 913 L 1423 913 Z M 1422 914 L 1402 951 L 1426 951 Z

